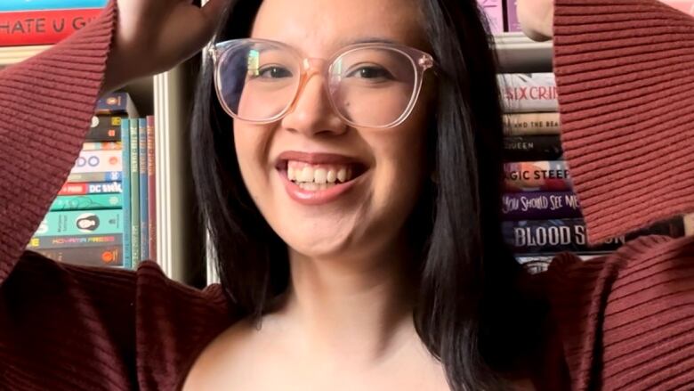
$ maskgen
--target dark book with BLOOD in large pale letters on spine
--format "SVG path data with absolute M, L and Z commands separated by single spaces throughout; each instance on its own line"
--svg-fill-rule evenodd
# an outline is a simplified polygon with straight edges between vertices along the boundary
M 521 220 L 502 223 L 504 240 L 516 254 L 549 252 L 609 252 L 642 235 L 667 235 L 679 238 L 685 229 L 682 217 L 654 224 L 649 228 L 606 240 L 595 247 L 586 243 L 585 222 L 582 218 L 561 220 Z

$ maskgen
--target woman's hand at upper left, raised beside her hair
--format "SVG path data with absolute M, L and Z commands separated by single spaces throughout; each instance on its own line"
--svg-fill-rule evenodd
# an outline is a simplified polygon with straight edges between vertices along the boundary
M 213 37 L 230 0 L 116 0 L 118 20 L 102 92 L 172 69 Z

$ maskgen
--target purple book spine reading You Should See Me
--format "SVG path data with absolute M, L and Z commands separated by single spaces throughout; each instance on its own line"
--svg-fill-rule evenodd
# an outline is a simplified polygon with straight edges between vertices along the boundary
M 573 191 L 529 191 L 502 196 L 504 220 L 552 220 L 581 217 L 581 206 Z

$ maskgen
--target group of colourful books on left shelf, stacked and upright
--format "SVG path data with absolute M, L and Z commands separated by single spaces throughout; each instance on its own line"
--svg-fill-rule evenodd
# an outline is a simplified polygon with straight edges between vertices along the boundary
M 75 167 L 28 249 L 124 268 L 156 257 L 154 118 L 137 117 L 125 92 L 99 100 Z

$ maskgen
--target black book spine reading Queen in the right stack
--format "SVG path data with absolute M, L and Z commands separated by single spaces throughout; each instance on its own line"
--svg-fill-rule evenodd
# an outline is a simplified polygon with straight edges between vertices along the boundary
M 506 161 L 559 160 L 561 139 L 557 134 L 512 135 L 504 137 L 504 159 Z

